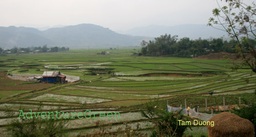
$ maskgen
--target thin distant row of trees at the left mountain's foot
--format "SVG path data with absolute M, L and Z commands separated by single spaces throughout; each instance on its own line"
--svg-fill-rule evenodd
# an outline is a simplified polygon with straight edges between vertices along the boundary
M 38 47 L 13 47 L 11 49 L 4 50 L 0 47 L 0 54 L 1 53 L 11 53 L 11 54 L 18 54 L 18 53 L 47 53 L 47 52 L 65 52 L 69 51 L 69 47 L 47 47 L 47 45 L 44 46 L 38 46 Z

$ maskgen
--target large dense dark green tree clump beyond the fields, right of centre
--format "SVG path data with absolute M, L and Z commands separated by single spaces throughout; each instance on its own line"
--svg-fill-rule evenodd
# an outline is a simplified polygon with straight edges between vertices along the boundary
M 250 42 L 254 45 L 256 44 L 255 40 L 250 39 Z M 178 36 L 165 34 L 154 38 L 153 41 L 142 41 L 139 55 L 197 57 L 217 52 L 236 53 L 235 46 L 237 44 L 237 41 L 234 39 L 230 41 L 223 40 L 222 38 L 190 40 L 185 37 L 178 40 Z M 242 44 L 244 47 L 248 47 L 247 43 Z

